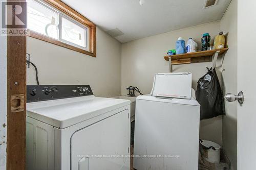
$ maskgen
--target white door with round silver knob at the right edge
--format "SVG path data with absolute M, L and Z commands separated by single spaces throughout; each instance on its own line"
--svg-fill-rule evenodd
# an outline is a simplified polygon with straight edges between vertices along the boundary
M 238 169 L 256 169 L 256 1 L 238 0 Z

